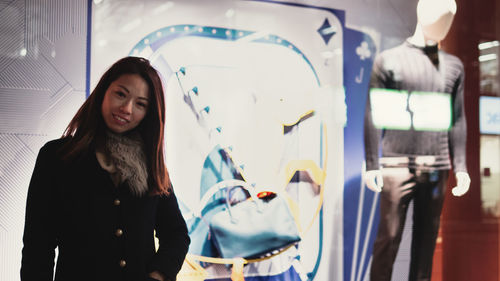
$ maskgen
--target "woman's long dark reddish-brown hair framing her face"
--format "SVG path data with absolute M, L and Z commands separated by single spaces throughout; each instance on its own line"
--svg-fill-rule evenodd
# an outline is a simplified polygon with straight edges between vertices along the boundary
M 113 81 L 124 74 L 141 76 L 149 88 L 150 102 L 146 116 L 137 130 L 144 141 L 150 183 L 153 194 L 170 194 L 172 187 L 164 162 L 165 100 L 163 85 L 158 72 L 147 59 L 125 57 L 115 62 L 101 77 L 94 91 L 83 103 L 64 131 L 63 138 L 69 141 L 62 147 L 64 160 L 71 160 L 87 150 L 103 136 L 106 125 L 101 113 L 106 90 Z

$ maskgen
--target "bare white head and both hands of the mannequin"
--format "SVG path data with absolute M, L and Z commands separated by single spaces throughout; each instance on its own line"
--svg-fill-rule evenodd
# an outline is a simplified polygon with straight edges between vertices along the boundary
M 408 39 L 413 45 L 424 47 L 438 44 L 446 37 L 457 12 L 454 0 L 420 0 L 417 5 L 417 26 L 415 33 Z M 457 186 L 451 192 L 454 196 L 464 195 L 470 187 L 470 177 L 466 172 L 455 174 Z M 381 170 L 365 172 L 366 186 L 375 191 L 382 191 L 384 181 Z

